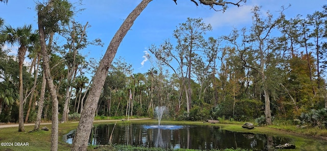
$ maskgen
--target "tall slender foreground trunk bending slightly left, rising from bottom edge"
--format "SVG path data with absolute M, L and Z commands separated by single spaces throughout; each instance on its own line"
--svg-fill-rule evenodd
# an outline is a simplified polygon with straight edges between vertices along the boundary
M 40 35 L 40 44 L 41 51 L 43 55 L 43 69 L 44 75 L 46 79 L 46 83 L 48 83 L 48 87 L 50 90 L 50 94 L 52 97 L 52 128 L 51 128 L 51 150 L 58 150 L 58 98 L 56 87 L 53 84 L 53 79 L 50 72 L 50 59 L 48 56 L 48 52 L 46 51 L 46 43 L 45 43 L 45 32 L 44 26 L 42 22 L 43 18 L 38 12 L 38 29 Z

